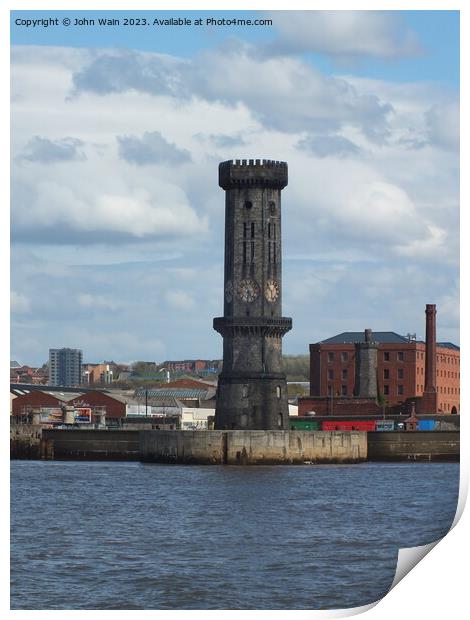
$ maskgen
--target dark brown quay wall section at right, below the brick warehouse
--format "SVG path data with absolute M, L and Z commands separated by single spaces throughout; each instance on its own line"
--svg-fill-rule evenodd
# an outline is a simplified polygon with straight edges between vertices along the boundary
M 458 461 L 459 431 L 367 433 L 370 461 Z

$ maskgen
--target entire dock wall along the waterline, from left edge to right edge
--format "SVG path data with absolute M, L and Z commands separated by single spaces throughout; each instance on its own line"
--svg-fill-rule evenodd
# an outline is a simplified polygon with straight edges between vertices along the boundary
M 164 431 L 12 425 L 13 459 L 160 463 L 458 461 L 458 431 Z

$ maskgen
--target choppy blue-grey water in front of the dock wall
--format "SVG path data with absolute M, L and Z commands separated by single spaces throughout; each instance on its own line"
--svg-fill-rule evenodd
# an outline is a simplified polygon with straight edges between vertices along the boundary
M 327 609 L 449 529 L 454 463 L 13 461 L 12 609 Z

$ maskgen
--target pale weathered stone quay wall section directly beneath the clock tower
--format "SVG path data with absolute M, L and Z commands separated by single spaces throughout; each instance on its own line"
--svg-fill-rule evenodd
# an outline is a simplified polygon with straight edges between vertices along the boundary
M 341 431 L 141 431 L 140 458 L 154 463 L 270 465 L 356 463 L 367 434 Z

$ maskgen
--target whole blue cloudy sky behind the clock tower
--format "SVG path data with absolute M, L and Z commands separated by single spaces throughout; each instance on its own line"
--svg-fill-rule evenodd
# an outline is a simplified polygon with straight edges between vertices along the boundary
M 272 25 L 152 23 L 208 16 Z M 14 11 L 11 42 L 12 359 L 221 358 L 232 158 L 289 165 L 284 353 L 423 338 L 426 303 L 459 344 L 458 12 Z

